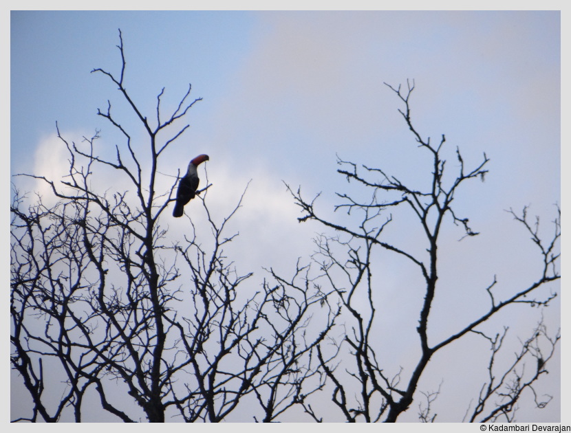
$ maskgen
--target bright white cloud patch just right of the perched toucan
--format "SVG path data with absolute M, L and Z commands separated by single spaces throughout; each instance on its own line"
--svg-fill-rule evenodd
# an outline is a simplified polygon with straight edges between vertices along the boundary
M 244 193 L 241 208 L 226 232 L 226 236 L 239 232 L 230 256 L 237 257 L 244 271 L 260 271 L 261 267 L 291 269 L 299 256 L 307 257 L 312 252 L 313 227 L 297 221 L 299 210 L 286 186 L 268 168 L 257 166 L 244 172 L 228 162 L 211 159 L 207 170 L 212 184 L 208 208 L 219 223 Z M 202 173 L 201 178 L 206 183 Z M 193 203 L 194 208 L 196 205 Z

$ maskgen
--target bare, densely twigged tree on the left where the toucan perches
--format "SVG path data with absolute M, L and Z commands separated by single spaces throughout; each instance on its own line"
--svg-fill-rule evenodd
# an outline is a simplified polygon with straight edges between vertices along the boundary
M 119 36 L 118 76 L 92 72 L 116 85 L 139 128 L 125 126 L 108 102 L 98 115 L 123 138 L 115 159 L 101 156 L 99 131 L 76 144 L 58 129 L 69 155 L 64 180 L 28 175 L 57 203 L 38 196 L 28 205 L 14 187 L 10 359 L 32 398 L 30 415 L 15 421 L 82 421 L 94 398 L 125 422 L 217 422 L 240 403 L 249 417 L 272 421 L 323 387 L 312 351 L 338 309 L 319 287 L 273 278 L 255 285 L 252 272 L 240 273 L 224 248 L 237 241 L 227 223 L 241 198 L 228 216 L 212 215 L 212 184 L 193 202 L 206 227 L 187 218 L 169 239 L 161 222 L 178 178 L 164 188 L 158 176 L 164 151 L 188 129 L 176 125 L 200 98 L 191 100 L 189 85 L 165 118 L 162 89 L 153 122 L 125 89 Z M 132 138 L 140 131 L 145 145 Z M 129 188 L 106 191 L 94 178 L 104 170 Z M 318 331 L 308 329 L 310 318 Z

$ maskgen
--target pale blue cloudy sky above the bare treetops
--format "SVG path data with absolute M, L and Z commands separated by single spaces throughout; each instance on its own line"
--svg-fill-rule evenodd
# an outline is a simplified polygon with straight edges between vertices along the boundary
M 116 135 L 96 113 L 107 100 L 121 113 L 120 95 L 91 70 L 118 74 L 120 29 L 125 87 L 149 118 L 163 87 L 165 113 L 189 84 L 191 98 L 203 98 L 165 155 L 162 185 L 208 153 L 201 173 L 213 184 L 213 208 L 224 213 L 251 180 L 235 226 L 244 239 L 239 265 L 287 272 L 312 253 L 311 238 L 323 229 L 297 222 L 284 182 L 308 198 L 321 192 L 319 209 L 335 219 L 335 192 L 352 188 L 336 174 L 337 157 L 422 181 L 430 161 L 384 84 L 414 80 L 413 124 L 431 140 L 446 135 L 449 168 L 457 146 L 470 166 L 484 152 L 491 159 L 486 181 L 456 200 L 482 234 L 457 243 L 458 229 L 444 238 L 451 253 L 443 258 L 443 290 L 460 305 L 440 324 L 444 332 L 473 309 L 453 291 L 458 279 L 486 287 L 497 274 L 517 287 L 537 275 L 533 245 L 505 210 L 529 205 L 547 234 L 561 203 L 560 19 L 557 11 L 12 11 L 10 174 L 65 174 L 56 122 L 77 143 L 99 130 L 100 151 L 113 150 Z M 165 225 L 183 230 L 168 216 Z M 406 236 L 402 242 L 414 245 Z M 402 287 L 408 278 L 397 273 L 386 285 Z M 559 300 L 548 311 L 552 331 Z M 561 381 L 559 372 L 547 379 L 555 387 Z M 560 406 L 557 396 L 532 419 L 565 417 Z

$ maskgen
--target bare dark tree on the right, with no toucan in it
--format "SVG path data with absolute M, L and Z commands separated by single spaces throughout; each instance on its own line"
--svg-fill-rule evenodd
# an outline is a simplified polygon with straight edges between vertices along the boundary
M 330 287 L 338 295 L 343 310 L 341 317 L 344 318 L 344 331 L 340 333 L 341 337 L 332 338 L 330 344 L 324 342 L 317 346 L 321 369 L 331 385 L 332 402 L 349 422 L 394 422 L 411 407 L 415 399 L 420 397 L 419 394 L 424 396 L 424 399 L 420 399 L 419 418 L 421 421 L 434 421 L 436 414 L 431 412 L 433 409 L 431 403 L 440 394 L 440 389 L 430 392 L 418 390 L 420 378 L 436 353 L 467 335 L 479 335 L 491 345 L 489 378 L 482 386 L 475 408 L 472 408 L 472 412 L 468 408 L 464 419 L 511 421 L 517 408 L 516 403 L 526 390 L 532 391 L 537 407 L 544 407 L 548 403 L 549 397 L 543 399 L 539 397 L 534 385 L 543 374 L 547 373 L 546 364 L 559 341 L 559 331 L 555 335 L 548 335 L 543 321 L 539 322 L 531 337 L 521 342 L 521 352 L 517 354 L 513 364 L 502 371 L 495 365 L 495 355 L 502 348 L 506 331 L 490 337 L 482 331 L 481 326 L 490 322 L 491 318 L 499 316 L 508 306 L 517 304 L 547 306 L 556 296 L 554 293 L 550 295 L 536 295 L 536 293 L 539 287 L 560 278 L 559 207 L 554 219 L 554 232 L 548 241 L 543 241 L 539 237 L 539 219 L 535 225 L 528 221 L 527 208 L 524 208 L 521 215 L 510 211 L 531 235 L 532 242 L 539 247 L 542 266 L 537 279 L 526 287 L 519 287 L 508 296 L 500 296 L 495 291 L 497 281 L 494 278 L 491 285 L 482 288 L 489 298 L 488 309 L 481 311 L 479 317 L 466 322 L 460 329 L 451 330 L 446 337 L 431 338 L 429 325 L 435 319 L 431 311 L 439 294 L 438 248 L 441 230 L 446 223 L 453 223 L 462 228 L 462 238 L 477 236 L 478 233 L 473 230 L 468 218 L 461 216 L 460 211 L 455 208 L 453 200 L 460 194 L 461 187 L 466 182 L 477 178 L 484 180 L 488 172 L 486 164 L 489 159 L 484 153 L 481 162 L 469 168 L 460 149 L 456 148 L 458 168 L 455 175 L 450 177 L 448 166 L 442 157 L 446 139 L 442 135 L 434 144 L 430 138 L 422 137 L 413 126 L 410 98 L 414 85 L 410 82 L 407 84 L 407 89 L 387 86 L 403 104 L 404 108 L 399 109 L 399 112 L 416 140 L 419 151 L 431 159 L 431 171 L 427 173 L 427 179 L 430 180 L 426 186 L 418 187 L 411 185 L 410 182 L 400 181 L 396 175 L 387 173 L 385 169 L 359 166 L 354 162 L 338 159 L 338 164 L 341 166 L 337 170 L 338 173 L 347 177 L 349 182 L 356 182 L 365 190 L 364 192 L 359 190 L 354 195 L 337 193 L 341 203 L 335 207 L 335 210 L 347 211 L 349 216 L 344 220 L 348 221 L 347 224 L 322 216 L 322 212 L 316 210 L 317 197 L 308 201 L 302 197 L 299 189 L 293 190 L 288 186 L 303 214 L 299 221 L 316 221 L 336 233 L 318 236 L 316 253 L 313 256 L 314 263 L 322 272 L 321 285 Z M 416 227 L 412 225 L 404 232 L 401 231 L 400 241 L 394 233 L 390 233 L 395 223 L 393 217 L 395 213 L 400 218 L 412 215 L 417 224 Z M 416 236 L 418 239 L 416 249 L 410 245 L 400 246 L 400 243 L 405 245 L 410 236 Z M 386 238 L 391 241 L 386 241 Z M 420 307 L 418 326 L 416 326 L 418 357 L 410 368 L 400 367 L 392 373 L 388 373 L 391 371 L 390 362 L 402 362 L 402 360 L 399 361 L 396 353 L 378 344 L 379 335 L 393 331 L 383 329 L 378 317 L 378 293 L 383 291 L 384 277 L 380 276 L 374 280 L 373 274 L 378 275 L 376 257 L 379 251 L 402 258 L 402 263 L 408 263 L 416 269 L 424 286 L 422 300 L 419 299 L 417 303 Z M 411 304 L 416 305 L 412 302 Z M 402 307 L 409 308 L 405 305 Z M 383 314 L 382 307 L 381 314 Z M 334 334 L 333 330 L 330 335 Z M 525 375 L 524 365 L 527 365 Z M 318 418 L 315 413 L 312 416 Z

